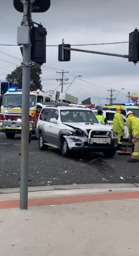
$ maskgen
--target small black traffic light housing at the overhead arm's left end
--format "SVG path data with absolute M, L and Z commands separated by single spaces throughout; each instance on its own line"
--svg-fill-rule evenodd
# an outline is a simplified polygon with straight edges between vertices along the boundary
M 70 50 L 64 50 L 63 47 L 70 48 L 70 44 L 58 45 L 58 61 L 70 61 Z

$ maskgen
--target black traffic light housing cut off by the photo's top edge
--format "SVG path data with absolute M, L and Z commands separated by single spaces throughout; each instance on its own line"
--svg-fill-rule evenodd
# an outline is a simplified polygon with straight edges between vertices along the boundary
M 32 12 L 46 12 L 51 5 L 51 0 L 35 0 L 32 3 Z M 23 4 L 20 0 L 14 0 L 14 8 L 18 12 L 23 12 Z

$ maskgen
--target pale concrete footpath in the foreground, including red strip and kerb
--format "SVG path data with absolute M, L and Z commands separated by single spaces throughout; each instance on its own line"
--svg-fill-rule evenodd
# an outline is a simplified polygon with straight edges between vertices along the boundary
M 139 184 L 0 189 L 2 256 L 138 256 Z

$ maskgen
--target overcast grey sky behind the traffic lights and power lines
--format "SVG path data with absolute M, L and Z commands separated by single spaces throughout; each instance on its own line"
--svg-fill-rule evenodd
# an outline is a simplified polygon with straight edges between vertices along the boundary
M 46 63 L 42 66 L 43 90 L 54 90 L 60 84 L 62 70 L 68 71 L 64 78 L 64 92 L 75 78 L 67 93 L 79 98 L 79 103 L 91 97 L 95 105 L 107 102 L 107 90 L 115 90 L 117 102 L 125 102 L 128 92 L 139 93 L 139 66 L 128 59 L 71 51 L 69 62 L 58 61 L 58 46 L 64 38 L 71 45 L 114 43 L 129 41 L 129 33 L 139 28 L 139 1 L 137 0 L 51 0 L 50 9 L 32 14 L 36 23 L 47 30 Z M 13 0 L 0 1 L 0 80 L 12 72 L 22 61 L 17 44 L 17 27 L 23 14 L 14 9 Z M 2 45 L 5 44 L 5 45 Z M 73 48 L 128 55 L 128 43 L 111 45 L 72 46 Z M 48 80 L 50 79 L 50 80 Z M 59 86 L 57 90 L 61 90 Z

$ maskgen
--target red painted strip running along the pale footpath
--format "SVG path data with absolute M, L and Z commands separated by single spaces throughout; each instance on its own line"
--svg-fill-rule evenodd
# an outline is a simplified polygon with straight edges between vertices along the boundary
M 28 207 L 44 206 L 44 205 L 63 205 L 63 204 L 73 204 L 73 203 L 89 203 L 89 202 L 97 202 L 97 201 L 136 199 L 136 198 L 139 198 L 139 191 L 98 194 L 98 195 L 40 198 L 40 199 L 29 199 Z M 12 208 L 19 208 L 19 200 L 0 202 L 0 209 L 12 209 Z

